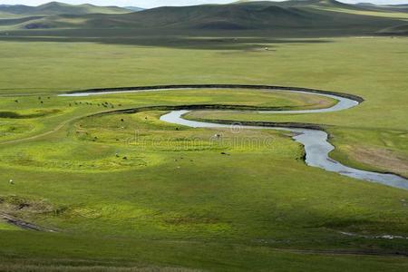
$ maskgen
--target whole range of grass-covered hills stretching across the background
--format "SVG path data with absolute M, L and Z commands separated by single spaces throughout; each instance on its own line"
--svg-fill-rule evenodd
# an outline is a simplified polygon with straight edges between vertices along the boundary
M 395 8 L 374 7 L 346 5 L 333 0 L 240 1 L 229 5 L 163 6 L 123 14 L 123 9 L 115 7 L 50 3 L 35 7 L 32 12 L 21 8 L 22 13 L 30 15 L 24 18 L 0 19 L 0 30 L 120 28 L 374 34 L 404 24 L 408 18 L 403 8 L 395 11 Z

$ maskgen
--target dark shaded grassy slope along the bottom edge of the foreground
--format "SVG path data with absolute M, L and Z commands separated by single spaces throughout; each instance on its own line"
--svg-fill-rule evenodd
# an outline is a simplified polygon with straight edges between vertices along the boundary
M 2 237 L 0 237 L 2 238 Z M 406 269 L 404 258 L 319 256 L 312 254 L 292 254 L 267 247 L 242 247 L 238 245 L 222 246 L 217 244 L 180 243 L 160 241 L 134 241 L 111 239 L 110 243 L 101 243 L 92 238 L 72 238 L 58 235 L 46 236 L 41 233 L 10 233 L 2 239 L 2 245 L 20 249 L 27 243 L 33 243 L 47 257 L 38 261 L 34 248 L 25 248 L 24 258 L 3 257 L 2 265 L 11 271 L 84 271 L 95 269 L 94 266 L 109 267 L 108 271 L 122 271 L 124 267 L 142 267 L 141 271 L 189 271 L 186 268 L 165 270 L 163 267 L 200 267 L 211 271 L 402 271 Z M 11 244 L 11 242 L 14 242 Z M 41 241 L 41 242 L 39 242 Z M 63 245 L 82 244 L 76 252 Z M 50 250 L 50 248 L 53 248 Z M 95 250 L 95 249 L 98 250 Z M 10 250 L 12 251 L 12 250 Z M 160 258 L 151 252 L 159 252 Z M 95 254 L 98 252 L 98 254 Z M 11 252 L 13 254 L 13 251 Z M 63 255 L 64 259 L 58 259 Z M 91 259 L 83 259 L 89 256 Z M 112 259 L 112 257 L 117 257 Z M 133 261 L 129 261 L 133 259 Z M 138 261 L 139 260 L 139 261 Z M 150 265 L 151 263 L 155 265 Z M 10 265 L 9 265 L 10 264 Z M 28 270 L 30 267 L 31 270 Z M 34 268 L 36 267 L 36 270 Z M 64 267 L 71 267 L 71 270 Z M 161 267 L 161 270 L 159 269 Z M 25 269 L 24 269 L 25 268 Z M 114 269 L 118 270 L 114 270 Z M 61 270 L 56 270 L 61 269 Z M 129 269 L 129 268 L 128 268 Z M 102 270 L 100 268 L 98 270 Z M 126 271 L 126 270 L 125 270 Z M 129 271 L 129 270 L 128 270 Z M 131 270 L 135 271 L 135 270 Z M 138 271 L 138 270 L 136 270 Z M 197 270 L 194 270 L 197 271 Z

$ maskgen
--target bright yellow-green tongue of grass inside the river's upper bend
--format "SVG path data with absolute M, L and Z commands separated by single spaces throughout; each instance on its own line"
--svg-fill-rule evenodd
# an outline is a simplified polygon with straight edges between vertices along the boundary
M 188 93 L 188 100 L 182 97 Z M 248 102 L 249 100 L 249 102 Z M 104 104 L 104 103 L 109 103 Z M 91 97 L 33 95 L 5 97 L 0 101 L 1 141 L 35 136 L 59 128 L 67 121 L 95 112 L 149 105 L 232 104 L 274 109 L 313 109 L 330 106 L 335 100 L 321 96 L 248 90 L 184 90 L 140 92 Z

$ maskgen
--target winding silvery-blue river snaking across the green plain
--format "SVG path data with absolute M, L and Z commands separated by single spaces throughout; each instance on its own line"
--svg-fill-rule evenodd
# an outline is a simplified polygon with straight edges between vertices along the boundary
M 290 87 L 275 87 L 275 86 L 257 86 L 253 85 L 219 85 L 217 87 L 209 85 L 196 85 L 194 87 L 187 85 L 180 85 L 180 88 L 177 86 L 157 86 L 157 87 L 135 87 L 136 90 L 126 90 L 126 89 L 113 89 L 110 90 L 88 90 L 83 92 L 70 92 L 62 94 L 61 96 L 87 96 L 87 95 L 97 95 L 97 94 L 111 94 L 118 92 L 155 92 L 155 91 L 170 91 L 170 90 L 184 90 L 184 89 L 222 89 L 222 88 L 250 88 L 257 89 L 261 91 L 274 91 L 274 92 L 297 92 L 303 94 L 317 94 L 329 98 L 333 98 L 337 103 L 325 109 L 316 109 L 316 110 L 302 110 L 302 111 L 260 111 L 260 113 L 265 114 L 282 114 L 282 113 L 323 113 L 323 112 L 337 112 L 346 109 L 353 108 L 359 104 L 358 99 L 355 99 L 352 95 L 346 95 L 342 93 L 335 94 L 335 92 L 325 92 L 325 91 L 316 91 L 308 90 L 304 88 L 290 88 Z M 265 88 L 263 88 L 265 87 Z M 362 100 L 361 100 L 362 101 Z M 183 126 L 188 126 L 192 128 L 230 128 L 228 124 L 220 124 L 215 122 L 208 121 L 189 121 L 184 119 L 182 116 L 190 112 L 189 110 L 179 110 L 172 111 L 170 113 L 164 114 L 160 117 L 161 121 L 167 121 L 174 124 L 180 124 Z M 257 129 L 257 130 L 278 130 L 278 131 L 291 131 L 294 136 L 292 137 L 295 141 L 301 143 L 305 147 L 306 151 L 306 164 L 311 167 L 318 167 L 327 171 L 336 172 L 338 174 L 355 178 L 358 180 L 367 180 L 372 182 L 381 183 L 387 186 L 392 186 L 399 189 L 408 189 L 408 180 L 403 177 L 393 175 L 393 174 L 384 174 L 377 173 L 366 170 L 358 170 L 341 164 L 338 161 L 332 160 L 329 157 L 329 153 L 335 149 L 335 147 L 330 144 L 327 139 L 328 135 L 325 131 L 320 130 L 311 130 L 305 128 L 296 128 L 296 125 L 291 128 L 287 127 L 275 127 L 275 126 L 251 126 L 251 125 L 240 125 L 245 129 Z

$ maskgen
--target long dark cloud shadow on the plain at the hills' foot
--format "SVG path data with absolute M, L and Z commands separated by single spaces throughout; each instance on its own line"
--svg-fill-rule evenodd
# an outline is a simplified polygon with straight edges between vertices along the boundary
M 331 40 L 316 37 L 294 38 L 257 32 L 225 32 L 225 33 L 162 33 L 134 32 L 131 30 L 92 30 L 65 29 L 42 31 L 15 31 L 0 33 L 0 41 L 10 42 L 53 42 L 53 43 L 98 43 L 122 44 L 136 46 L 159 46 L 176 49 L 205 50 L 256 50 L 274 44 L 323 44 Z

